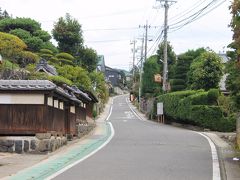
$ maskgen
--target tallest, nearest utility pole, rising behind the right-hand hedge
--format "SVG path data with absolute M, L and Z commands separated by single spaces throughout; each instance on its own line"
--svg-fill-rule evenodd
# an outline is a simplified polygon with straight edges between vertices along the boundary
M 175 3 L 176 1 L 172 0 L 156 0 L 160 2 L 164 2 L 164 9 L 165 9 L 165 15 L 164 15 L 164 51 L 163 51 L 163 91 L 166 92 L 168 90 L 168 54 L 167 54 L 167 34 L 168 34 L 168 9 L 169 9 L 169 3 Z

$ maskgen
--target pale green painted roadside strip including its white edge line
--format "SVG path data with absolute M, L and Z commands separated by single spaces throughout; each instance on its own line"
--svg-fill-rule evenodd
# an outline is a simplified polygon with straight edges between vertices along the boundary
M 109 122 L 104 122 L 101 124 L 101 126 L 101 128 L 103 128 L 103 133 L 101 135 L 97 135 L 97 138 L 94 138 L 93 135 L 92 137 L 89 137 L 85 144 L 79 143 L 76 147 L 67 151 L 63 155 L 58 156 L 55 159 L 46 160 L 46 162 L 39 163 L 31 168 L 22 170 L 9 177 L 9 179 L 40 180 L 56 177 L 58 174 L 60 174 L 58 173 L 59 171 L 61 172 L 63 169 L 67 170 L 75 164 L 83 161 L 87 157 L 90 157 L 112 139 L 114 135 L 112 124 Z

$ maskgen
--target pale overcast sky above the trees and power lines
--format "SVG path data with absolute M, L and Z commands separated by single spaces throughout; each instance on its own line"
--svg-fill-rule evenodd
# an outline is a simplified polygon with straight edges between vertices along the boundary
M 188 22 L 189 16 L 212 1 L 215 3 L 200 14 L 203 17 L 178 29 Z M 139 25 L 146 24 L 146 21 L 151 25 L 148 29 L 149 40 L 153 40 L 148 43 L 148 56 L 154 54 L 156 38 L 162 31 L 164 20 L 164 8 L 159 5 L 156 0 L 0 1 L 0 7 L 13 17 L 35 19 L 50 33 L 54 22 L 70 13 L 82 25 L 85 45 L 104 55 L 107 66 L 126 70 L 132 66 L 130 41 L 135 38 L 137 46 L 141 45 L 144 29 Z M 168 40 L 175 53 L 199 47 L 209 47 L 217 53 L 226 51 L 224 47 L 232 41 L 232 32 L 228 27 L 231 21 L 229 5 L 230 0 L 177 0 L 172 4 L 169 9 Z

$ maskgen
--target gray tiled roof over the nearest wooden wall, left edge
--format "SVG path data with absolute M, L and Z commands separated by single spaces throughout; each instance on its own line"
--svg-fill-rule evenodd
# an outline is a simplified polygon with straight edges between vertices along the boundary
M 56 85 L 48 80 L 0 80 L 0 90 L 53 90 Z

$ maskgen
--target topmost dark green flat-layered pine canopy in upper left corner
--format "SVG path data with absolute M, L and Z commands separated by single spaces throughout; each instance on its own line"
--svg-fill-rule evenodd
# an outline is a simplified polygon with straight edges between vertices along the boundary
M 9 32 L 13 29 L 23 29 L 30 33 L 33 33 L 41 29 L 40 24 L 30 18 L 6 18 L 0 21 L 0 31 Z

